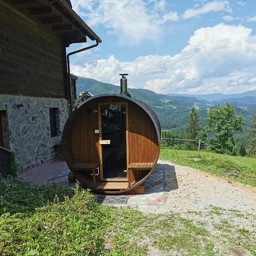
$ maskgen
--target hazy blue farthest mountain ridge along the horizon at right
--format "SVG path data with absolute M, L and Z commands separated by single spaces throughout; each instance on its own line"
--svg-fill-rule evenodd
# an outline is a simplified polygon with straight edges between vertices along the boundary
M 201 100 L 216 102 L 224 101 L 234 98 L 243 98 L 243 97 L 255 97 L 256 90 L 250 90 L 244 93 L 233 93 L 233 94 L 222 94 L 222 93 L 212 93 L 212 94 L 177 94 L 177 93 L 168 93 L 169 96 L 183 96 L 183 97 L 195 97 L 200 98 Z

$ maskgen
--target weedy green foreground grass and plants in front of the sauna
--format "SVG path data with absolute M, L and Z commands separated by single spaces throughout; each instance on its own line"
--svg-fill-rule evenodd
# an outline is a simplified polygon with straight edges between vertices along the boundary
M 255 249 L 254 234 L 246 226 L 228 229 L 231 224 L 223 221 L 228 232 L 215 237 L 205 222 L 199 221 L 201 213 L 193 222 L 171 212 L 145 215 L 127 207 L 99 205 L 89 191 L 78 186 L 47 187 L 0 178 L 0 187 L 3 256 L 135 256 L 152 249 L 168 255 L 213 255 L 222 250 L 218 245 L 221 241 L 226 244 L 227 236 L 230 247 Z M 213 217 L 222 217 L 223 213 L 224 209 L 217 207 L 209 212 Z M 221 229 L 221 225 L 216 227 Z

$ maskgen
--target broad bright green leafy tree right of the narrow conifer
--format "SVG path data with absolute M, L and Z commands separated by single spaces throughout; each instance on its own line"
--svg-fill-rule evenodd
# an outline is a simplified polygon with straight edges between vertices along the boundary
M 205 124 L 206 133 L 212 135 L 210 139 L 210 150 L 230 155 L 237 155 L 237 148 L 234 143 L 234 131 L 242 131 L 243 117 L 234 113 L 234 106 L 226 104 L 210 108 L 207 113 Z

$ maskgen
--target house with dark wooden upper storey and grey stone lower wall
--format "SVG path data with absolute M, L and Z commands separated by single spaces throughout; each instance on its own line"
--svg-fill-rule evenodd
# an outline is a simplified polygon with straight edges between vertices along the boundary
M 0 150 L 19 173 L 55 156 L 76 95 L 66 47 L 87 38 L 101 42 L 69 0 L 0 0 Z

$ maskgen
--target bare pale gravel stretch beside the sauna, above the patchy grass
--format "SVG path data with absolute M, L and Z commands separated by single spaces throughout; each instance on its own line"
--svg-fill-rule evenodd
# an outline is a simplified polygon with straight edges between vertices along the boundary
M 139 207 L 142 212 L 204 212 L 214 206 L 256 214 L 256 188 L 168 161 L 158 163 L 166 171 L 166 205 Z

